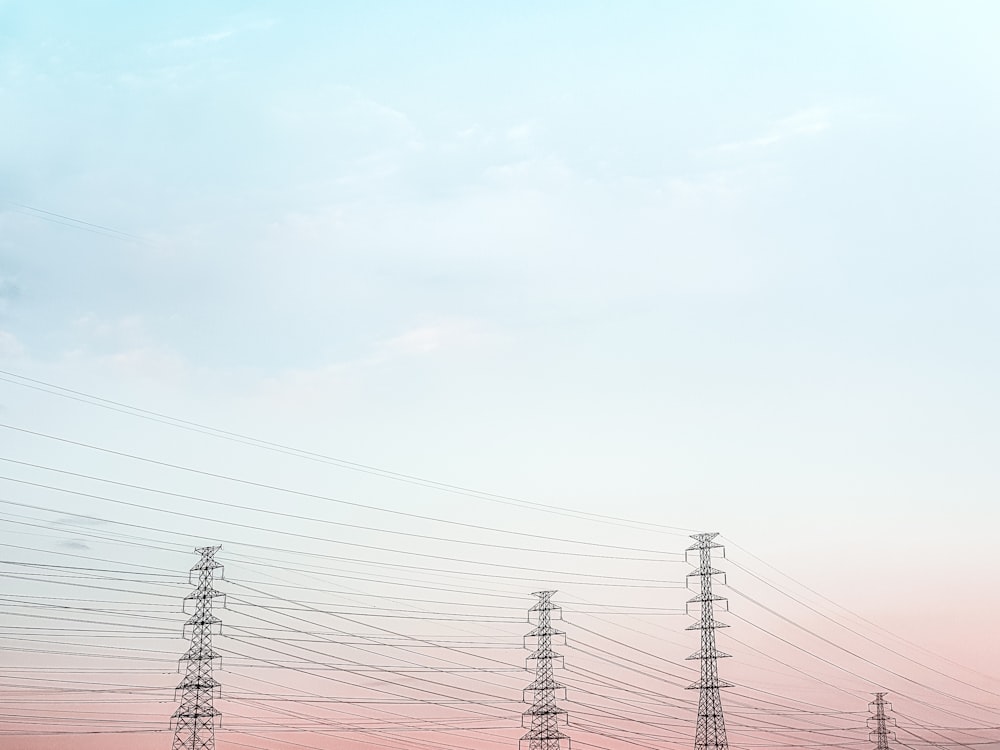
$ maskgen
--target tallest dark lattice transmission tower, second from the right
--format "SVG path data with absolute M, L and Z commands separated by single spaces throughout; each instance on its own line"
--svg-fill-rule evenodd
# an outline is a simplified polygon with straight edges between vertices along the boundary
M 725 601 L 726 597 L 712 593 L 712 578 L 725 575 L 721 570 L 712 567 L 712 550 L 723 549 L 716 544 L 714 534 L 692 534 L 695 540 L 685 551 L 698 551 L 698 567 L 688 573 L 688 577 L 698 576 L 701 579 L 701 591 L 698 596 L 688 600 L 688 606 L 698 602 L 701 604 L 701 618 L 688 626 L 688 630 L 701 631 L 701 649 L 691 654 L 688 659 L 701 661 L 701 679 L 688 687 L 688 690 L 698 690 L 698 726 L 695 728 L 695 750 L 728 750 L 729 740 L 726 738 L 726 722 L 722 716 L 722 695 L 719 688 L 732 687 L 731 683 L 719 679 L 718 659 L 729 656 L 715 647 L 715 629 L 729 626 L 715 619 L 715 603 Z M 723 549 L 723 556 L 725 550 Z

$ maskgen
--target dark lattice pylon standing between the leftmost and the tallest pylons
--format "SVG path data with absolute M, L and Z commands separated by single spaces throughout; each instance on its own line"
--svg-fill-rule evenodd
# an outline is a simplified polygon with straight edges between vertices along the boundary
M 534 663 L 535 679 L 524 689 L 525 703 L 531 694 L 531 708 L 521 716 L 521 726 L 528 727 L 528 733 L 519 743 L 521 750 L 569 750 L 570 747 L 569 737 L 559 729 L 560 724 L 569 723 L 569 716 L 556 705 L 559 697 L 565 698 L 566 686 L 556 682 L 553 675 L 556 663 L 562 666 L 563 657 L 552 650 L 552 638 L 566 635 L 552 627 L 553 619 L 562 619 L 561 607 L 552 603 L 555 593 L 536 591 L 538 603 L 528 610 L 528 622 L 534 623 L 535 628 L 525 636 L 525 648 L 534 648 L 527 662 L 529 668 Z

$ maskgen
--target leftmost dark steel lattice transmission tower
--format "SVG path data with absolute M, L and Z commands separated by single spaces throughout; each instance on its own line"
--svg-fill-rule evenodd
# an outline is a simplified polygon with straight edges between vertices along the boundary
M 191 645 L 181 657 L 186 662 L 184 679 L 177 686 L 181 704 L 174 711 L 172 724 L 174 744 L 172 750 L 215 750 L 215 719 L 220 712 L 212 705 L 220 691 L 219 682 L 212 677 L 212 665 L 219 654 L 212 648 L 212 629 L 222 620 L 212 614 L 212 601 L 224 596 L 214 586 L 215 571 L 222 563 L 215 561 L 215 553 L 222 547 L 199 547 L 198 563 L 191 568 L 190 577 L 198 576 L 195 590 L 184 597 L 184 610 L 194 603 L 194 612 L 184 623 L 184 633 L 191 629 Z M 193 580 L 192 580 L 193 583 Z

